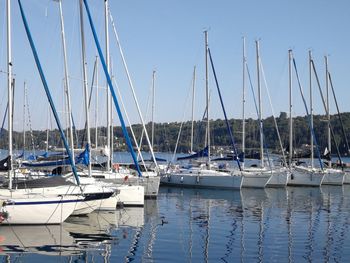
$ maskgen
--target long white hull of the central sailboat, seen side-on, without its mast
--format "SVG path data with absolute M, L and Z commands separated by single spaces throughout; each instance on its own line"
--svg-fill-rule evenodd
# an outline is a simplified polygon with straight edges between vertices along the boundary
M 161 176 L 161 184 L 192 188 L 240 189 L 242 176 L 214 170 L 180 170 Z

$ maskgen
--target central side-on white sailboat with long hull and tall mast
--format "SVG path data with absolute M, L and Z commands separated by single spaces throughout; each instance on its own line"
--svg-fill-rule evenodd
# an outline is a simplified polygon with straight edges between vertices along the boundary
M 193 187 L 193 188 L 221 188 L 240 189 L 242 176 L 238 173 L 228 173 L 213 169 L 210 160 L 210 124 L 209 124 L 209 82 L 208 82 L 208 31 L 205 34 L 205 76 L 206 76 L 206 148 L 202 156 L 206 156 L 206 163 L 198 167 L 169 167 L 161 175 L 160 182 L 163 185 Z M 197 153 L 198 155 L 198 153 Z

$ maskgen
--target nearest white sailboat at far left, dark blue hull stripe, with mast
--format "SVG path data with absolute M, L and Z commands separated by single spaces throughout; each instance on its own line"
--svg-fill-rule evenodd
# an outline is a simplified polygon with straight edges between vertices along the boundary
M 84 200 L 83 195 L 51 195 L 44 194 L 23 194 L 16 190 L 12 190 L 12 54 L 11 54 L 11 0 L 7 1 L 7 64 L 8 64 L 8 129 L 9 129 L 9 159 L 8 159 L 8 189 L 0 192 L 0 224 L 60 224 L 68 218 L 74 211 L 76 204 Z M 18 1 L 20 11 L 25 24 L 28 38 L 31 45 L 34 45 L 28 25 L 24 16 L 21 1 Z M 34 57 L 37 54 L 33 50 Z M 37 60 L 38 62 L 38 60 Z M 38 65 L 39 71 L 42 73 L 41 66 Z M 44 79 L 44 75 L 41 77 Z M 44 81 L 45 82 L 45 81 Z M 45 82 L 45 88 L 47 88 Z M 50 98 L 50 97 L 49 97 Z M 50 101 L 52 102 L 52 100 Z M 60 123 L 58 122 L 60 127 Z M 64 135 L 63 135 L 64 138 Z M 70 153 L 70 152 L 69 152 Z M 70 156 L 71 158 L 71 156 Z M 79 179 L 77 178 L 79 184 Z M 5 195 L 4 195 L 5 193 Z

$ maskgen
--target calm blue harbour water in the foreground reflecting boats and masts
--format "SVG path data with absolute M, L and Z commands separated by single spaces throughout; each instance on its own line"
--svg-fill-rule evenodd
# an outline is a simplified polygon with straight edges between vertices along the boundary
M 350 186 L 160 189 L 144 208 L 0 227 L 1 262 L 349 262 Z

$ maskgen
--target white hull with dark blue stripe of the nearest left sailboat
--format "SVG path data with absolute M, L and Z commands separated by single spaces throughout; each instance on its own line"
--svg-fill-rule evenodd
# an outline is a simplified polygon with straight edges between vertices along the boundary
M 23 196 L 22 198 L 1 197 L 5 200 L 1 213 L 1 224 L 9 225 L 41 225 L 61 224 L 74 211 L 77 202 L 83 197 L 78 196 Z

